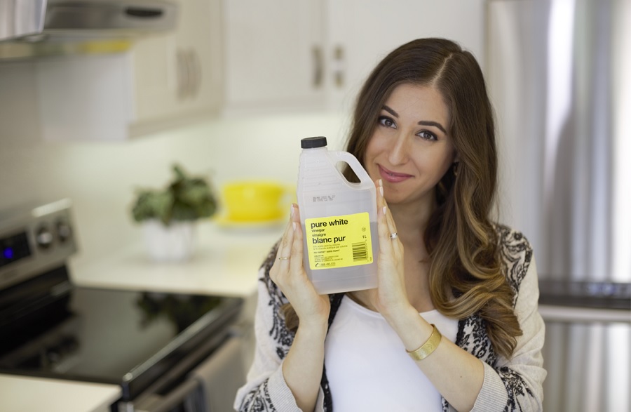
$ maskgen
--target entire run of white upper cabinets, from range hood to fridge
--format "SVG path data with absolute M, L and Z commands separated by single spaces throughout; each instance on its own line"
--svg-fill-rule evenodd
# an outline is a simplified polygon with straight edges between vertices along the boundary
M 124 58 L 40 63 L 48 140 L 120 140 L 219 112 L 345 113 L 376 62 L 424 36 L 484 63 L 485 0 L 176 1 L 177 30 Z

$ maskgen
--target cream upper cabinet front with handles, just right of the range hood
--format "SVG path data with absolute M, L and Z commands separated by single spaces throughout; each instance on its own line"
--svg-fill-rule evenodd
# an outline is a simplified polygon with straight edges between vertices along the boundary
M 158 126 L 218 112 L 222 101 L 220 0 L 178 1 L 170 34 L 133 48 L 135 125 Z

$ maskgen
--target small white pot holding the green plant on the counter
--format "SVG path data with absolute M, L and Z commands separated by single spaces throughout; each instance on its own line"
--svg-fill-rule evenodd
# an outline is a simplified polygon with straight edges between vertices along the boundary
M 165 226 L 160 220 L 142 224 L 147 253 L 157 262 L 188 260 L 195 247 L 195 222 L 171 222 Z

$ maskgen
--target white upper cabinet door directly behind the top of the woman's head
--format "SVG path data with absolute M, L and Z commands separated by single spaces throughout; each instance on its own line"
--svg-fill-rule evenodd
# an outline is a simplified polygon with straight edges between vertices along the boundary
M 325 0 L 327 106 L 348 110 L 394 48 L 421 37 L 458 41 L 484 64 L 485 0 Z

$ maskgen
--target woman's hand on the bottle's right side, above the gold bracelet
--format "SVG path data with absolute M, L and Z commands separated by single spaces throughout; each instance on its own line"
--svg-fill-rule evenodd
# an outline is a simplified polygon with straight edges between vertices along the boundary
M 398 310 L 409 306 L 405 288 L 403 244 L 397 235 L 397 227 L 384 198 L 381 180 L 377 184 L 377 227 L 379 257 L 377 260 L 378 286 L 369 291 L 369 302 L 386 319 Z

